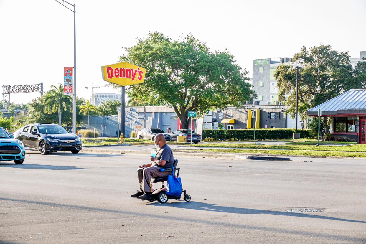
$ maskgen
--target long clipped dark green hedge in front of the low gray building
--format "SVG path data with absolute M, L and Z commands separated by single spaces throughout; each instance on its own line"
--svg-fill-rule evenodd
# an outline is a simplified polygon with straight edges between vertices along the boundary
M 255 139 L 258 140 L 277 140 L 292 138 L 292 133 L 295 133 L 295 129 L 272 129 L 272 128 L 258 128 L 255 129 Z M 310 138 L 310 129 L 298 129 L 301 138 Z M 204 129 L 202 132 L 202 138 L 206 137 L 216 138 L 215 130 Z M 218 140 L 229 140 L 232 137 L 238 140 L 254 140 L 253 129 L 219 129 L 217 130 Z

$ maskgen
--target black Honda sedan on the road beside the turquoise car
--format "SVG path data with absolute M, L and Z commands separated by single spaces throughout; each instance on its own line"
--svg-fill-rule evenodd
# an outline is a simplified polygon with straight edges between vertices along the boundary
M 38 150 L 41 154 L 57 151 L 79 153 L 81 150 L 79 136 L 67 132 L 58 124 L 29 124 L 13 135 L 23 142 L 26 150 Z

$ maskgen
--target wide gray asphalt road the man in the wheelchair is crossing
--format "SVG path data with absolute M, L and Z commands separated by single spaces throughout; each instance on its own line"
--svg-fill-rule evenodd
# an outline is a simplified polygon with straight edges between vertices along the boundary
M 294 159 L 179 158 L 192 200 L 160 204 L 130 198 L 146 155 L 27 152 L 0 162 L 0 243 L 366 243 L 366 162 Z

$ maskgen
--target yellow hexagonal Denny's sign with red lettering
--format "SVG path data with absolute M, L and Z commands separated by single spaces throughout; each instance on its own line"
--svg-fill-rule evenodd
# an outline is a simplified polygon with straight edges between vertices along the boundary
M 102 79 L 116 85 L 128 86 L 142 83 L 146 69 L 127 62 L 102 66 Z

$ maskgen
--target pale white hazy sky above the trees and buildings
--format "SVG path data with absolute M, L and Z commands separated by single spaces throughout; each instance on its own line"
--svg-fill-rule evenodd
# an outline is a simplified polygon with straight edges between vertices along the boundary
M 172 39 L 192 33 L 211 50 L 227 48 L 250 78 L 253 59 L 292 57 L 304 45 L 330 44 L 351 57 L 366 50 L 366 0 L 69 2 L 76 4 L 76 95 L 87 99 L 85 86 L 106 84 L 100 67 L 117 63 L 122 47 L 152 31 Z M 63 67 L 73 66 L 70 10 L 55 0 L 0 0 L 0 23 L 0 86 L 43 82 L 48 90 L 63 82 Z M 38 96 L 11 94 L 10 100 Z

